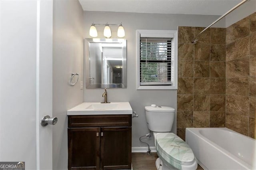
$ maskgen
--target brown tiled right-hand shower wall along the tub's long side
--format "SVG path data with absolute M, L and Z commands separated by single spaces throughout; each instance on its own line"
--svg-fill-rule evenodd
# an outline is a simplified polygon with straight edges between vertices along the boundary
M 226 127 L 255 138 L 256 13 L 226 29 Z

